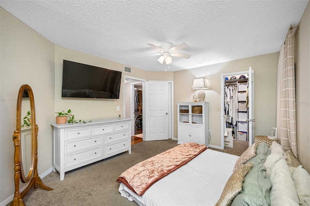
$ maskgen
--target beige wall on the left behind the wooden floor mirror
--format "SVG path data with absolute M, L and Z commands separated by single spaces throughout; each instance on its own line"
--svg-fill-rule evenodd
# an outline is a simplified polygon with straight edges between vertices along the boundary
M 21 85 L 34 94 L 38 132 L 38 172 L 52 167 L 54 44 L 0 8 L 0 202 L 14 193 L 16 101 Z

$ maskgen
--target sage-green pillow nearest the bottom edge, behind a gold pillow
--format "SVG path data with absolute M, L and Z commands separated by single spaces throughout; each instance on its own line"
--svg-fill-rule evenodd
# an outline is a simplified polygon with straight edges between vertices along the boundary
M 271 182 L 263 162 L 254 165 L 243 182 L 242 191 L 231 206 L 270 206 Z

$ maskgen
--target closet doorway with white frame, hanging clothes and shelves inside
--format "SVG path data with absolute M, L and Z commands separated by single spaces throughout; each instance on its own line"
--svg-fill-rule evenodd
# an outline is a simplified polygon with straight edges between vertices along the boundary
M 221 149 L 234 142 L 253 143 L 254 72 L 221 74 Z M 255 120 L 254 120 L 255 121 Z

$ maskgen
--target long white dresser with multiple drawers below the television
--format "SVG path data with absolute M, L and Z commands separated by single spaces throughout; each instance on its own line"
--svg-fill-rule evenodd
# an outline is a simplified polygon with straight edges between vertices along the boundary
M 101 119 L 90 123 L 51 124 L 54 128 L 53 170 L 64 173 L 128 151 L 132 119 Z

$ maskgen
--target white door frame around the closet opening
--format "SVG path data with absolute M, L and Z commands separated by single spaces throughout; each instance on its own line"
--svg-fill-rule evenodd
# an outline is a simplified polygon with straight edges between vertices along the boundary
M 242 71 L 242 72 L 233 72 L 233 73 L 227 73 L 227 74 L 221 74 L 221 146 L 220 149 L 224 149 L 225 148 L 225 142 L 224 142 L 224 77 L 225 76 L 237 76 L 237 75 L 242 75 L 242 74 L 248 74 L 248 70 L 246 71 Z M 251 98 L 252 98 L 252 118 L 254 118 L 254 70 L 251 70 L 251 76 L 252 76 L 252 87 L 251 87 Z M 249 82 L 248 82 L 249 83 Z M 253 125 L 253 124 L 252 124 Z M 249 122 L 248 122 L 248 126 L 249 126 Z M 248 146 L 251 146 L 253 144 L 253 140 L 254 140 L 254 126 L 251 127 L 252 129 L 252 136 L 248 137 Z

